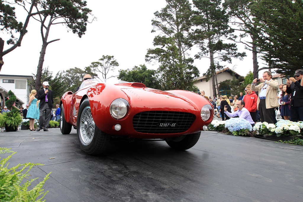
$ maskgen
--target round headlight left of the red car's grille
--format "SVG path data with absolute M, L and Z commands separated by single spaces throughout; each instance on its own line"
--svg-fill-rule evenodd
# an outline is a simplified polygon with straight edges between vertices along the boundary
M 115 119 L 125 117 L 128 112 L 129 103 L 123 98 L 115 99 L 109 107 L 109 112 Z

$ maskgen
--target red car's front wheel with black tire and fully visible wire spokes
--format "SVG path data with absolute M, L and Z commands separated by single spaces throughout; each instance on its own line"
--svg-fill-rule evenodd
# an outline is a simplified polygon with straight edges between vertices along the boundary
M 88 154 L 101 154 L 110 140 L 110 135 L 95 125 L 88 98 L 82 102 L 78 111 L 77 135 L 81 149 Z

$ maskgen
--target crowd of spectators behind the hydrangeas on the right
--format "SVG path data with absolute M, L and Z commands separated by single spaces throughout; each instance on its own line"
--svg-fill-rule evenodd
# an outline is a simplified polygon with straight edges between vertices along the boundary
M 302 77 L 303 70 L 298 69 L 293 77 L 287 77 L 286 84 L 279 84 L 270 71 L 265 71 L 262 78 L 255 78 L 246 86 L 244 94 L 239 92 L 233 100 L 231 96 L 220 95 L 213 99 L 209 97 L 209 101 L 218 111 L 216 116 L 222 120 L 241 115 L 240 118 L 245 117 L 252 125 L 258 121 L 275 124 L 276 110 L 279 110 L 282 119 L 303 121 Z M 205 96 L 204 91 L 202 96 Z

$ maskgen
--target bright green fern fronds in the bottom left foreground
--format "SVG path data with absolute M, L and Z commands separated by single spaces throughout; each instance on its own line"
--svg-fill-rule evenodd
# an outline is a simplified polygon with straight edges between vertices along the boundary
M 27 180 L 24 184 L 21 184 L 22 181 L 28 176 L 31 176 L 28 172 L 32 167 L 43 164 L 26 163 L 8 168 L 8 160 L 17 152 L 13 152 L 8 148 L 0 148 L 0 154 L 5 153 L 12 154 L 0 161 L 0 201 L 42 201 L 48 192 L 43 192 L 42 186 L 51 173 L 47 174 L 44 180 L 39 182 L 32 190 L 28 190 L 28 187 L 34 180 L 38 179 L 38 177 L 29 181 Z M 42 194 L 43 196 L 37 199 Z

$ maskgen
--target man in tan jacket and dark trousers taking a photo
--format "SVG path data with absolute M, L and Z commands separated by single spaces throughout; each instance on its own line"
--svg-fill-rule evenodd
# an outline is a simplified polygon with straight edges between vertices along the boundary
M 255 78 L 251 85 L 252 91 L 259 91 L 257 106 L 261 122 L 266 121 L 269 124 L 274 123 L 272 115 L 275 113 L 275 108 L 279 106 L 277 98 L 279 82 L 271 77 L 271 72 L 265 71 L 263 78 L 260 79 L 261 84 L 256 86 L 257 78 Z

